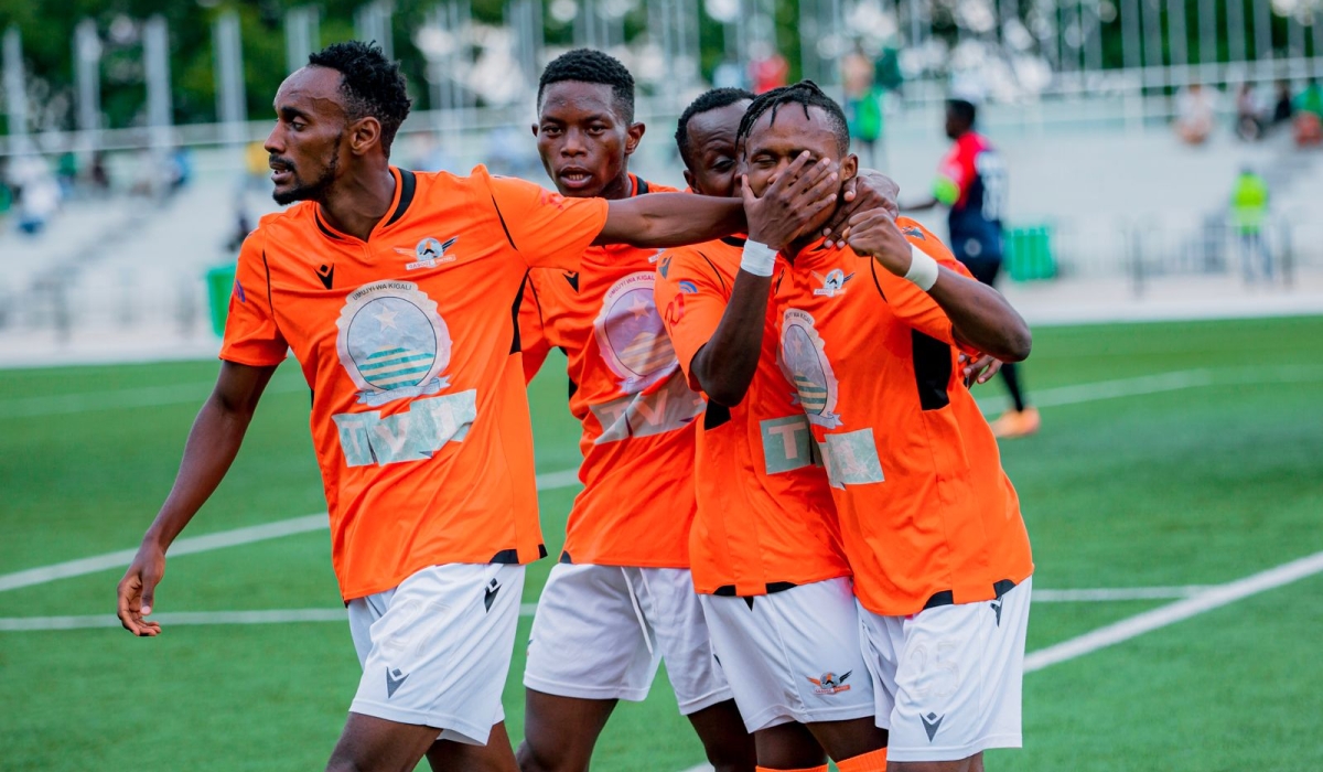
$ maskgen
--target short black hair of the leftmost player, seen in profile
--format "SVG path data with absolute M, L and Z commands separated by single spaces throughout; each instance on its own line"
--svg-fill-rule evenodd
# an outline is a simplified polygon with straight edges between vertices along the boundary
M 340 73 L 340 93 L 349 121 L 368 115 L 381 122 L 381 150 L 390 156 L 390 143 L 409 117 L 409 91 L 400 62 L 393 62 L 376 42 L 335 42 L 308 54 L 308 66 Z

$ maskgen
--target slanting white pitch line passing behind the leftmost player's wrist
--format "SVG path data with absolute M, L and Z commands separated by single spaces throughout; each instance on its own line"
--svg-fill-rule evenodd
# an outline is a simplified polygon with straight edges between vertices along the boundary
M 578 485 L 577 469 L 565 469 L 561 471 L 537 475 L 537 490 L 556 490 L 574 485 Z M 278 539 L 280 536 L 304 534 L 308 531 L 324 531 L 328 527 L 329 522 L 327 520 L 327 514 L 320 512 L 316 515 L 304 515 L 302 518 L 265 523 L 262 526 L 247 526 L 245 528 L 234 528 L 233 531 L 206 534 L 205 536 L 185 536 L 176 540 L 171 546 L 169 556 L 175 557 L 177 555 L 208 552 L 210 550 L 220 550 L 221 547 L 251 544 L 254 542 L 266 542 L 267 539 Z M 0 575 L 0 592 L 7 589 L 19 589 L 20 587 L 32 587 L 34 584 L 45 584 L 48 581 L 67 579 L 70 576 L 95 573 L 110 568 L 120 568 L 132 563 L 136 552 L 136 548 L 119 550 L 116 552 L 107 552 L 93 557 L 69 560 L 67 563 L 57 563 L 54 565 L 29 568 L 15 573 L 4 573 Z

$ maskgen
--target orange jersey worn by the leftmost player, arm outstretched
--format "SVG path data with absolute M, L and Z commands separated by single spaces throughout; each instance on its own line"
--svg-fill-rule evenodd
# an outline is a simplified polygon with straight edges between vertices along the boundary
M 303 368 L 345 600 L 429 565 L 545 554 L 517 298 L 531 266 L 577 267 L 607 212 L 483 167 L 392 173 L 368 241 L 314 203 L 262 218 L 221 348 L 259 367 L 290 348 Z

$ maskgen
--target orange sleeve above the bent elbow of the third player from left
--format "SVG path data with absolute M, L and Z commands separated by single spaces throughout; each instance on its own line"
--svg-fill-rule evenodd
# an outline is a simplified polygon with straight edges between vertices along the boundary
M 721 275 L 697 249 L 684 246 L 662 254 L 654 301 L 675 348 L 689 388 L 703 391 L 691 365 L 721 323 L 730 302 L 730 279 Z

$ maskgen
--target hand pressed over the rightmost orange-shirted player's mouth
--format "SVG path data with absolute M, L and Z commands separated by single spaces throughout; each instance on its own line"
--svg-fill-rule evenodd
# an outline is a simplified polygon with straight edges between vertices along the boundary
M 831 160 L 810 163 L 808 151 L 799 154 L 771 184 L 755 196 L 749 176 L 741 176 L 749 240 L 783 249 L 799 237 L 804 226 L 836 204 L 836 169 Z

